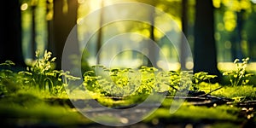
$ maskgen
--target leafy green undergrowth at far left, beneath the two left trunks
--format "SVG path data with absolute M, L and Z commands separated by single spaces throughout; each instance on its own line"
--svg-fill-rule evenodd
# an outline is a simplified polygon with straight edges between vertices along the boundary
M 12 61 L 0 64 L 0 67 L 4 67 L 0 71 L 0 95 L 8 95 L 23 89 L 42 90 L 52 96 L 61 96 L 65 95 L 65 86 L 69 80 L 79 79 L 70 75 L 68 71 L 55 70 L 53 65 L 56 58 L 47 50 L 43 56 L 37 51 L 36 58 L 31 67 L 19 73 L 11 70 L 11 66 L 15 65 Z

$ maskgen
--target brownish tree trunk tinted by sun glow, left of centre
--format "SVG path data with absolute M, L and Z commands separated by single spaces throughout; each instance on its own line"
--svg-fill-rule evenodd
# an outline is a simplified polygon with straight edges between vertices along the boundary
M 65 7 L 67 5 L 67 7 Z M 65 12 L 65 9 L 66 11 Z M 56 60 L 56 69 L 61 69 L 61 57 L 64 45 L 66 43 L 67 37 L 69 33 L 72 31 L 73 27 L 77 22 L 77 9 L 78 9 L 78 1 L 77 0 L 67 0 L 65 3 L 64 0 L 54 0 L 54 39 L 55 39 L 55 56 Z M 73 46 L 67 46 L 74 55 L 79 54 L 79 44 L 78 38 L 73 38 Z M 72 63 L 72 61 L 70 61 Z

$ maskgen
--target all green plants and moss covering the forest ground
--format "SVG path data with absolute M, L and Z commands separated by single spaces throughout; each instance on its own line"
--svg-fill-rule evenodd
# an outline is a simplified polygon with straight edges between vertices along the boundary
M 217 76 L 204 72 L 193 74 L 154 67 L 108 69 L 94 66 L 91 67 L 94 70 L 84 73 L 84 82 L 78 90 L 65 90 L 68 81 L 79 78 L 67 71 L 55 70 L 56 58 L 49 51 L 42 56 L 37 52 L 36 56 L 37 60 L 31 67 L 18 73 L 12 71 L 15 65 L 12 61 L 0 64 L 0 117 L 6 122 L 4 125 L 90 127 L 94 123 L 77 112 L 68 101 L 67 93 L 75 91 L 81 91 L 78 100 L 93 99 L 108 108 L 131 108 L 152 94 L 165 95 L 160 108 L 141 122 L 148 127 L 255 125 L 252 122 L 255 122 L 253 101 L 256 89 L 247 84 L 253 75 L 246 72 L 248 59 L 236 60 L 236 69 L 224 73 L 230 78 L 230 84 L 212 84 L 211 79 Z M 90 92 L 92 99 L 83 95 L 85 90 Z M 176 96 L 177 92 L 186 93 Z M 177 113 L 171 114 L 169 109 L 175 103 L 174 97 L 186 102 Z

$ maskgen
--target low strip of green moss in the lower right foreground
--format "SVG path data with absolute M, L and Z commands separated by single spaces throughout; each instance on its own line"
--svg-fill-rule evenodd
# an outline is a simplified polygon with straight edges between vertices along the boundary
M 159 108 L 144 121 L 152 119 L 168 119 L 170 123 L 198 122 L 202 120 L 213 120 L 220 122 L 241 122 L 238 118 L 239 108 L 230 108 L 220 106 L 216 108 L 185 106 L 177 110 L 176 113 L 170 113 L 169 108 Z

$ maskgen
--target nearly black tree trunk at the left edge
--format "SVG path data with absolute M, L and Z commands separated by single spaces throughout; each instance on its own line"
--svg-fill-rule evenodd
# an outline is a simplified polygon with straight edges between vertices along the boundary
M 19 0 L 3 1 L 0 8 L 0 62 L 14 61 L 15 67 L 26 67 L 21 47 Z

